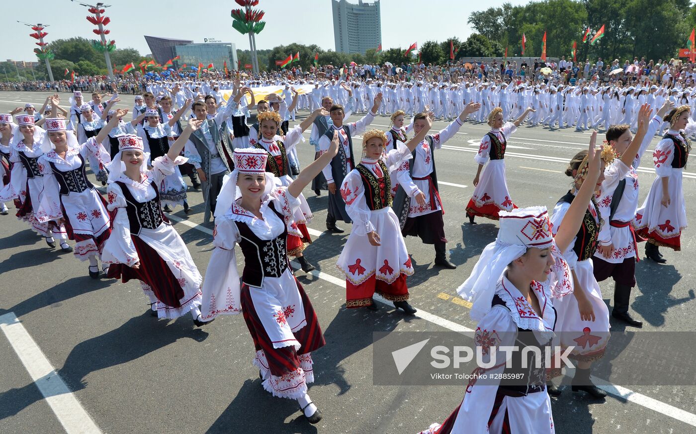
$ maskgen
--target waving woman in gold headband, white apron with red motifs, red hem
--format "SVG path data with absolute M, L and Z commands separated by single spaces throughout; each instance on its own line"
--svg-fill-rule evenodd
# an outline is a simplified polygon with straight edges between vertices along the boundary
M 387 136 L 380 130 L 363 134 L 363 157 L 341 185 L 353 229 L 336 267 L 346 277 L 346 307 L 377 310 L 372 295 L 378 293 L 404 312 L 413 314 L 406 277 L 413 274 L 411 258 L 401 234 L 399 219 L 391 209 L 390 173 L 425 139 L 432 119 L 408 144 L 397 142 L 385 153 Z

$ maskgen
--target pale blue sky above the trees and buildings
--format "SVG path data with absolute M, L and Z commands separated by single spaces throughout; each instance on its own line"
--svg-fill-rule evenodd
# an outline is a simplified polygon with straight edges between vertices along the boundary
M 265 10 L 266 28 L 256 36 L 258 49 L 270 49 L 280 44 L 299 42 L 317 44 L 324 49 L 335 49 L 333 42 L 333 0 L 261 0 L 258 8 Z M 357 0 L 349 0 L 357 3 Z M 528 1 L 509 0 L 513 4 Z M 0 60 L 35 61 L 31 29 L 17 20 L 35 24 L 50 24 L 47 42 L 58 38 L 83 36 L 95 39 L 94 26 L 85 17 L 87 8 L 69 0 L 6 1 L 0 14 L 3 29 Z M 248 36 L 232 29 L 230 10 L 237 8 L 232 0 L 209 0 L 209 6 L 198 6 L 203 1 L 183 0 L 143 1 L 114 0 L 106 9 L 111 17 L 111 39 L 116 47 L 133 47 L 141 54 L 150 53 L 143 35 L 188 39 L 203 42 L 213 38 L 234 42 L 237 48 L 248 49 Z M 500 6 L 503 0 L 474 1 L 413 1 L 382 0 L 382 47 L 408 47 L 411 42 L 445 40 L 450 36 L 466 39 L 473 29 L 466 24 L 473 10 Z M 93 3 L 94 4 L 94 3 Z M 27 6 L 31 5 L 31 8 Z M 194 6 L 195 5 L 195 6 Z M 311 23 L 311 25 L 308 25 Z

